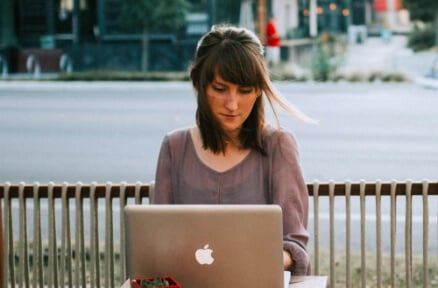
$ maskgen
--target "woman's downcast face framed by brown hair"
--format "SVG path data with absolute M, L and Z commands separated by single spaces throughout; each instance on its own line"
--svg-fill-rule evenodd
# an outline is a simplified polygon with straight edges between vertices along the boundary
M 255 87 L 227 82 L 218 74 L 206 90 L 207 101 L 214 117 L 230 136 L 238 135 L 260 94 L 260 90 Z

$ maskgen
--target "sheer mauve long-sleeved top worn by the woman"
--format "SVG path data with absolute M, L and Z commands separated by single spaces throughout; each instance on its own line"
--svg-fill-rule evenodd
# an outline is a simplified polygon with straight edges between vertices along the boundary
M 161 144 L 154 203 L 278 204 L 284 249 L 293 259 L 291 272 L 308 275 L 308 193 L 295 138 L 267 125 L 263 143 L 268 156 L 252 150 L 234 167 L 217 172 L 199 159 L 189 128 L 168 133 Z

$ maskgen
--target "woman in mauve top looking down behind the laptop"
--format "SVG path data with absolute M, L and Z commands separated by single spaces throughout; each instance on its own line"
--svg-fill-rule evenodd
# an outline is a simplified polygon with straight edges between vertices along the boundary
M 197 125 L 165 136 L 155 203 L 278 204 L 284 268 L 309 274 L 308 194 L 297 145 L 291 133 L 265 123 L 262 94 L 271 106 L 304 116 L 275 92 L 260 40 L 246 29 L 214 26 L 198 43 L 190 77 Z

